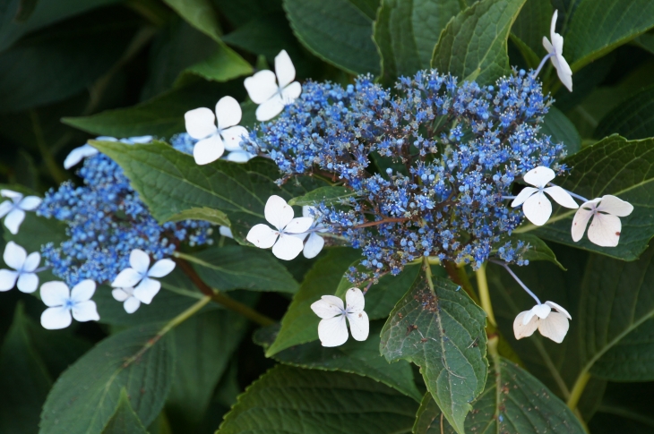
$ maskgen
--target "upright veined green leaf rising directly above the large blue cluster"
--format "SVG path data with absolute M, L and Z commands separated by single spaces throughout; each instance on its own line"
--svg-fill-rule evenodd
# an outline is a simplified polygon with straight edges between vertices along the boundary
M 432 67 L 480 84 L 509 73 L 506 40 L 525 1 L 482 0 L 459 13 L 443 30 Z

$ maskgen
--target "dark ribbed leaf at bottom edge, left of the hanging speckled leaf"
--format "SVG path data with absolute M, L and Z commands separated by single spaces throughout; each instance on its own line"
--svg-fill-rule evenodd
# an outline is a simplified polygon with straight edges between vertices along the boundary
M 219 434 L 409 432 L 417 403 L 354 374 L 278 365 L 238 396 Z

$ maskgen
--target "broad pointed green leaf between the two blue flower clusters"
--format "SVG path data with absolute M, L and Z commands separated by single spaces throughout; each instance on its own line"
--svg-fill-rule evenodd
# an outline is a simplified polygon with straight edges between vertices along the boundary
M 241 243 L 250 227 L 265 222 L 263 208 L 272 194 L 288 199 L 318 186 L 314 178 L 305 178 L 306 189 L 295 181 L 280 189 L 275 183 L 280 174 L 277 166 L 263 158 L 246 164 L 218 160 L 198 166 L 190 155 L 160 141 L 136 146 L 90 143 L 123 167 L 133 189 L 159 222 L 176 219 L 187 209 L 216 208 L 228 216 L 232 233 Z

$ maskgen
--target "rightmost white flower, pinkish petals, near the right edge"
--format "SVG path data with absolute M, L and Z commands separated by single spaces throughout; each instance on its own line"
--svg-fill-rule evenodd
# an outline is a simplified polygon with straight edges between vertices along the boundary
M 602 247 L 615 247 L 620 241 L 622 223 L 620 217 L 627 217 L 633 211 L 633 205 L 615 196 L 607 194 L 598 199 L 589 200 L 577 209 L 572 219 L 572 240 L 581 240 L 590 218 L 588 238 L 592 243 Z

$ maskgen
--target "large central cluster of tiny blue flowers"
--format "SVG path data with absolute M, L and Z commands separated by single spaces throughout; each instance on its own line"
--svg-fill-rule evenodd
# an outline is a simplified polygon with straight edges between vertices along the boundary
M 308 82 L 242 145 L 271 157 L 280 182 L 320 173 L 355 191 L 319 213 L 376 275 L 421 256 L 478 267 L 521 223 L 503 199 L 512 183 L 536 166 L 565 170 L 564 145 L 539 132 L 550 104 L 539 81 L 515 70 L 485 87 L 434 70 L 394 91 L 370 76 L 346 88 Z M 523 248 L 505 245 L 501 256 L 522 263 Z

